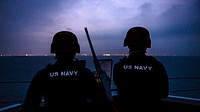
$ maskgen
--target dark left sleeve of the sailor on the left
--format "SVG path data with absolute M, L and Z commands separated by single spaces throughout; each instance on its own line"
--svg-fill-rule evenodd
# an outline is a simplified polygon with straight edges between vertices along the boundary
M 40 72 L 37 72 L 29 85 L 25 101 L 22 105 L 22 112 L 38 111 L 42 99 L 41 90 Z

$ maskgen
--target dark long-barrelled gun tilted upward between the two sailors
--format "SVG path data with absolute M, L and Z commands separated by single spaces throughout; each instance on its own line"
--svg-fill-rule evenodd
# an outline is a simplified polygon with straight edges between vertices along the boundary
M 100 80 L 103 84 L 103 89 L 104 89 L 104 92 L 106 94 L 106 98 L 107 98 L 108 103 L 112 103 L 113 97 L 112 97 L 112 93 L 110 91 L 109 79 L 107 77 L 106 72 L 104 70 L 102 70 L 101 65 L 100 65 L 100 63 L 97 59 L 97 56 L 95 54 L 92 42 L 90 40 L 90 36 L 89 36 L 88 30 L 87 30 L 87 27 L 85 27 L 84 29 L 85 29 L 85 33 L 86 33 L 90 48 L 91 48 L 91 52 L 92 52 L 92 56 L 93 56 L 93 62 L 94 62 L 94 65 L 95 65 L 96 72 L 100 76 Z

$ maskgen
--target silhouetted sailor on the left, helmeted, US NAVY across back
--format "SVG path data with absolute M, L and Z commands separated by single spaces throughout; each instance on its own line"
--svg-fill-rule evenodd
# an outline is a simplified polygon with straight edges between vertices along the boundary
M 51 53 L 56 62 L 48 64 L 33 77 L 22 105 L 23 112 L 87 111 L 88 101 L 98 98 L 94 74 L 84 60 L 75 58 L 80 46 L 75 34 L 60 31 L 53 36 Z M 44 99 L 44 108 L 39 108 Z

